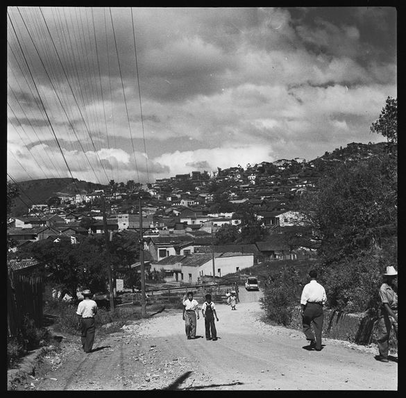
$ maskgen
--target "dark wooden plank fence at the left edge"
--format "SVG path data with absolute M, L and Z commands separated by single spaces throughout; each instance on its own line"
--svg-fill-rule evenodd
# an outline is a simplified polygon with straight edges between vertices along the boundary
M 17 335 L 25 315 L 42 326 L 42 278 L 12 272 L 7 279 L 8 335 Z

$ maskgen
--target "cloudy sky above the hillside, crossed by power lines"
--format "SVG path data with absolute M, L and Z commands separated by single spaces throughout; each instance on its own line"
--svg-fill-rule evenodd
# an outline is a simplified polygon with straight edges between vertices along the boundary
M 8 174 L 312 160 L 384 141 L 369 127 L 396 76 L 395 8 L 10 7 Z

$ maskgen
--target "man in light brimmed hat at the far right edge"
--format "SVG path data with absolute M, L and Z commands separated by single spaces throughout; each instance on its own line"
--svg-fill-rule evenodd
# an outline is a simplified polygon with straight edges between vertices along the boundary
M 398 272 L 391 265 L 387 267 L 384 281 L 379 290 L 380 317 L 378 321 L 378 349 L 381 362 L 389 362 L 389 335 L 394 327 L 396 340 L 398 340 L 398 295 L 394 290 Z

